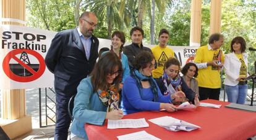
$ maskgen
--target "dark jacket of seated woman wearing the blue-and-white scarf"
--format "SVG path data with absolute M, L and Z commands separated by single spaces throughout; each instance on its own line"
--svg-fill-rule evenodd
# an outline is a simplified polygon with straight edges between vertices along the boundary
M 164 85 L 164 82 L 162 80 L 162 77 L 160 77 L 159 79 L 155 79 L 156 83 L 158 85 L 158 87 L 161 90 L 161 93 L 164 95 L 164 93 L 166 92 L 167 88 Z M 187 87 L 186 82 L 184 81 L 184 79 L 181 77 L 181 90 L 185 93 L 186 98 L 189 99 L 189 101 L 191 101 L 192 103 L 194 103 L 194 98 L 195 98 L 195 92 L 193 90 L 191 90 L 189 87 Z

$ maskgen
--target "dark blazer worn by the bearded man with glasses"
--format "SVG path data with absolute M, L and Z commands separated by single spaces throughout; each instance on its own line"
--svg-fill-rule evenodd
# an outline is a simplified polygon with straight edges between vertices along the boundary
M 80 80 L 87 77 L 98 58 L 99 41 L 92 36 L 90 58 L 87 60 L 77 29 L 56 34 L 45 57 L 49 71 L 54 73 L 56 93 L 72 96 L 77 93 Z

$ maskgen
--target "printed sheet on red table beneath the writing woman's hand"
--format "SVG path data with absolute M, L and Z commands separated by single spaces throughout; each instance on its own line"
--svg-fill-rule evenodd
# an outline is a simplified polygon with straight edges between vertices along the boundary
M 142 119 L 121 119 L 121 120 L 108 120 L 108 129 L 117 128 L 143 128 L 148 127 L 145 118 Z

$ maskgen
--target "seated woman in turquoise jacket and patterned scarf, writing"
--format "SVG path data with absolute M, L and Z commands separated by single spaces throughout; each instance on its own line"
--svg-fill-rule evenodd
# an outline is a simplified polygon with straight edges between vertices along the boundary
M 74 99 L 70 138 L 88 139 L 85 125 L 103 125 L 105 119 L 122 119 L 119 109 L 119 83 L 122 77 L 122 64 L 114 53 L 102 55 L 95 68 L 81 80 Z

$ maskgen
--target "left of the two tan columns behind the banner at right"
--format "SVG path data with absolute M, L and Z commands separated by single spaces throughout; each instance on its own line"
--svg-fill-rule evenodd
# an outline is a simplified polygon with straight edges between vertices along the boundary
M 200 46 L 202 0 L 191 1 L 190 46 Z

